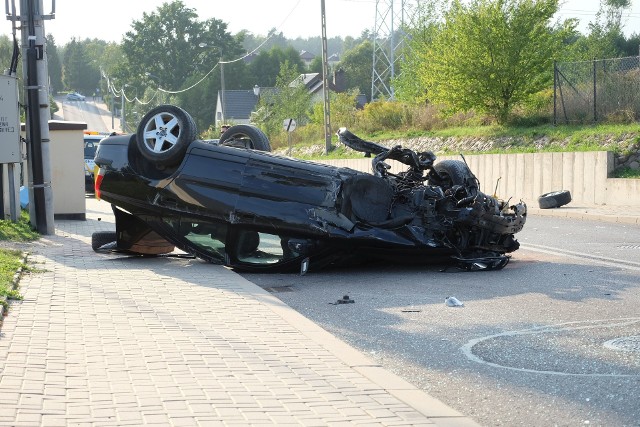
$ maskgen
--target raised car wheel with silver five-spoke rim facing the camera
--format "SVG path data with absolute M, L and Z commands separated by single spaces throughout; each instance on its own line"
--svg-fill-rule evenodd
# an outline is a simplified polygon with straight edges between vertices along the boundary
M 136 132 L 140 153 L 157 166 L 182 161 L 198 130 L 189 113 L 174 105 L 160 105 L 144 115 Z

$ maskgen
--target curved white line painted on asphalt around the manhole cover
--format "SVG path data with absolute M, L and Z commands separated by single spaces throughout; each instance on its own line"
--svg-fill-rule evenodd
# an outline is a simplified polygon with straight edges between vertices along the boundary
M 596 322 L 617 322 L 610 325 L 596 324 Z M 618 326 L 629 326 L 635 323 L 640 323 L 640 317 L 631 317 L 624 319 L 601 319 L 601 320 L 586 320 L 580 322 L 566 322 L 559 323 L 557 325 L 549 325 L 549 326 L 538 326 L 531 329 L 522 329 L 519 331 L 507 331 L 501 332 L 499 334 L 487 335 L 486 337 L 475 338 L 467 342 L 465 345 L 461 347 L 462 352 L 467 358 L 473 362 L 480 363 L 483 365 L 492 366 L 494 368 L 508 369 L 511 371 L 518 372 L 528 372 L 532 374 L 546 374 L 546 375 L 559 375 L 559 376 L 567 376 L 567 377 L 606 377 L 606 378 L 636 378 L 640 377 L 640 374 L 579 374 L 579 373 L 570 373 L 570 372 L 558 372 L 558 371 L 546 371 L 546 370 L 536 370 L 536 369 L 527 369 L 527 368 L 514 368 L 512 366 L 504 366 L 493 362 L 487 362 L 483 358 L 476 356 L 473 354 L 473 347 L 486 340 L 490 340 L 492 338 L 497 337 L 513 337 L 519 335 L 533 335 L 533 334 L 544 334 L 549 332 L 559 332 L 559 331 L 576 331 L 580 329 L 593 329 L 593 328 L 602 328 L 602 327 L 618 327 Z M 578 325 L 575 327 L 565 327 L 566 325 Z

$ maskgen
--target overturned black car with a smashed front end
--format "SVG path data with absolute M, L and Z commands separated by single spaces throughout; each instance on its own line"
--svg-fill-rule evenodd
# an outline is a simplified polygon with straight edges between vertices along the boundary
M 175 246 L 238 270 L 302 273 L 362 260 L 500 269 L 518 249 L 526 205 L 482 193 L 464 161 L 338 136 L 374 155 L 372 174 L 273 155 L 249 125 L 198 140 L 186 111 L 156 107 L 136 134 L 100 142 L 96 196 L 112 204 L 116 231 L 94 233 L 92 247 Z

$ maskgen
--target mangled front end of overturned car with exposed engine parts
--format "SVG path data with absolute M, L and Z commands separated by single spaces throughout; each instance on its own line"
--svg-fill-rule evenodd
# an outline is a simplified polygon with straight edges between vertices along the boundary
M 508 262 L 504 254 L 519 248 L 514 234 L 524 226 L 526 204 L 509 205 L 482 193 L 464 161 L 434 163 L 432 152 L 387 149 L 346 129 L 338 135 L 345 145 L 376 154 L 373 175 L 344 185 L 342 213 L 352 221 L 380 228 L 406 226 L 416 244 L 450 248 L 456 259 L 469 265 L 501 268 Z M 393 174 L 386 160 L 408 169 Z

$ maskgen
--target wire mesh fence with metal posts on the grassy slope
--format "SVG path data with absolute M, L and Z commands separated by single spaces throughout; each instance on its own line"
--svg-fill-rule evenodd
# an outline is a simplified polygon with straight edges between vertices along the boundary
M 640 56 L 554 64 L 553 123 L 640 120 Z

